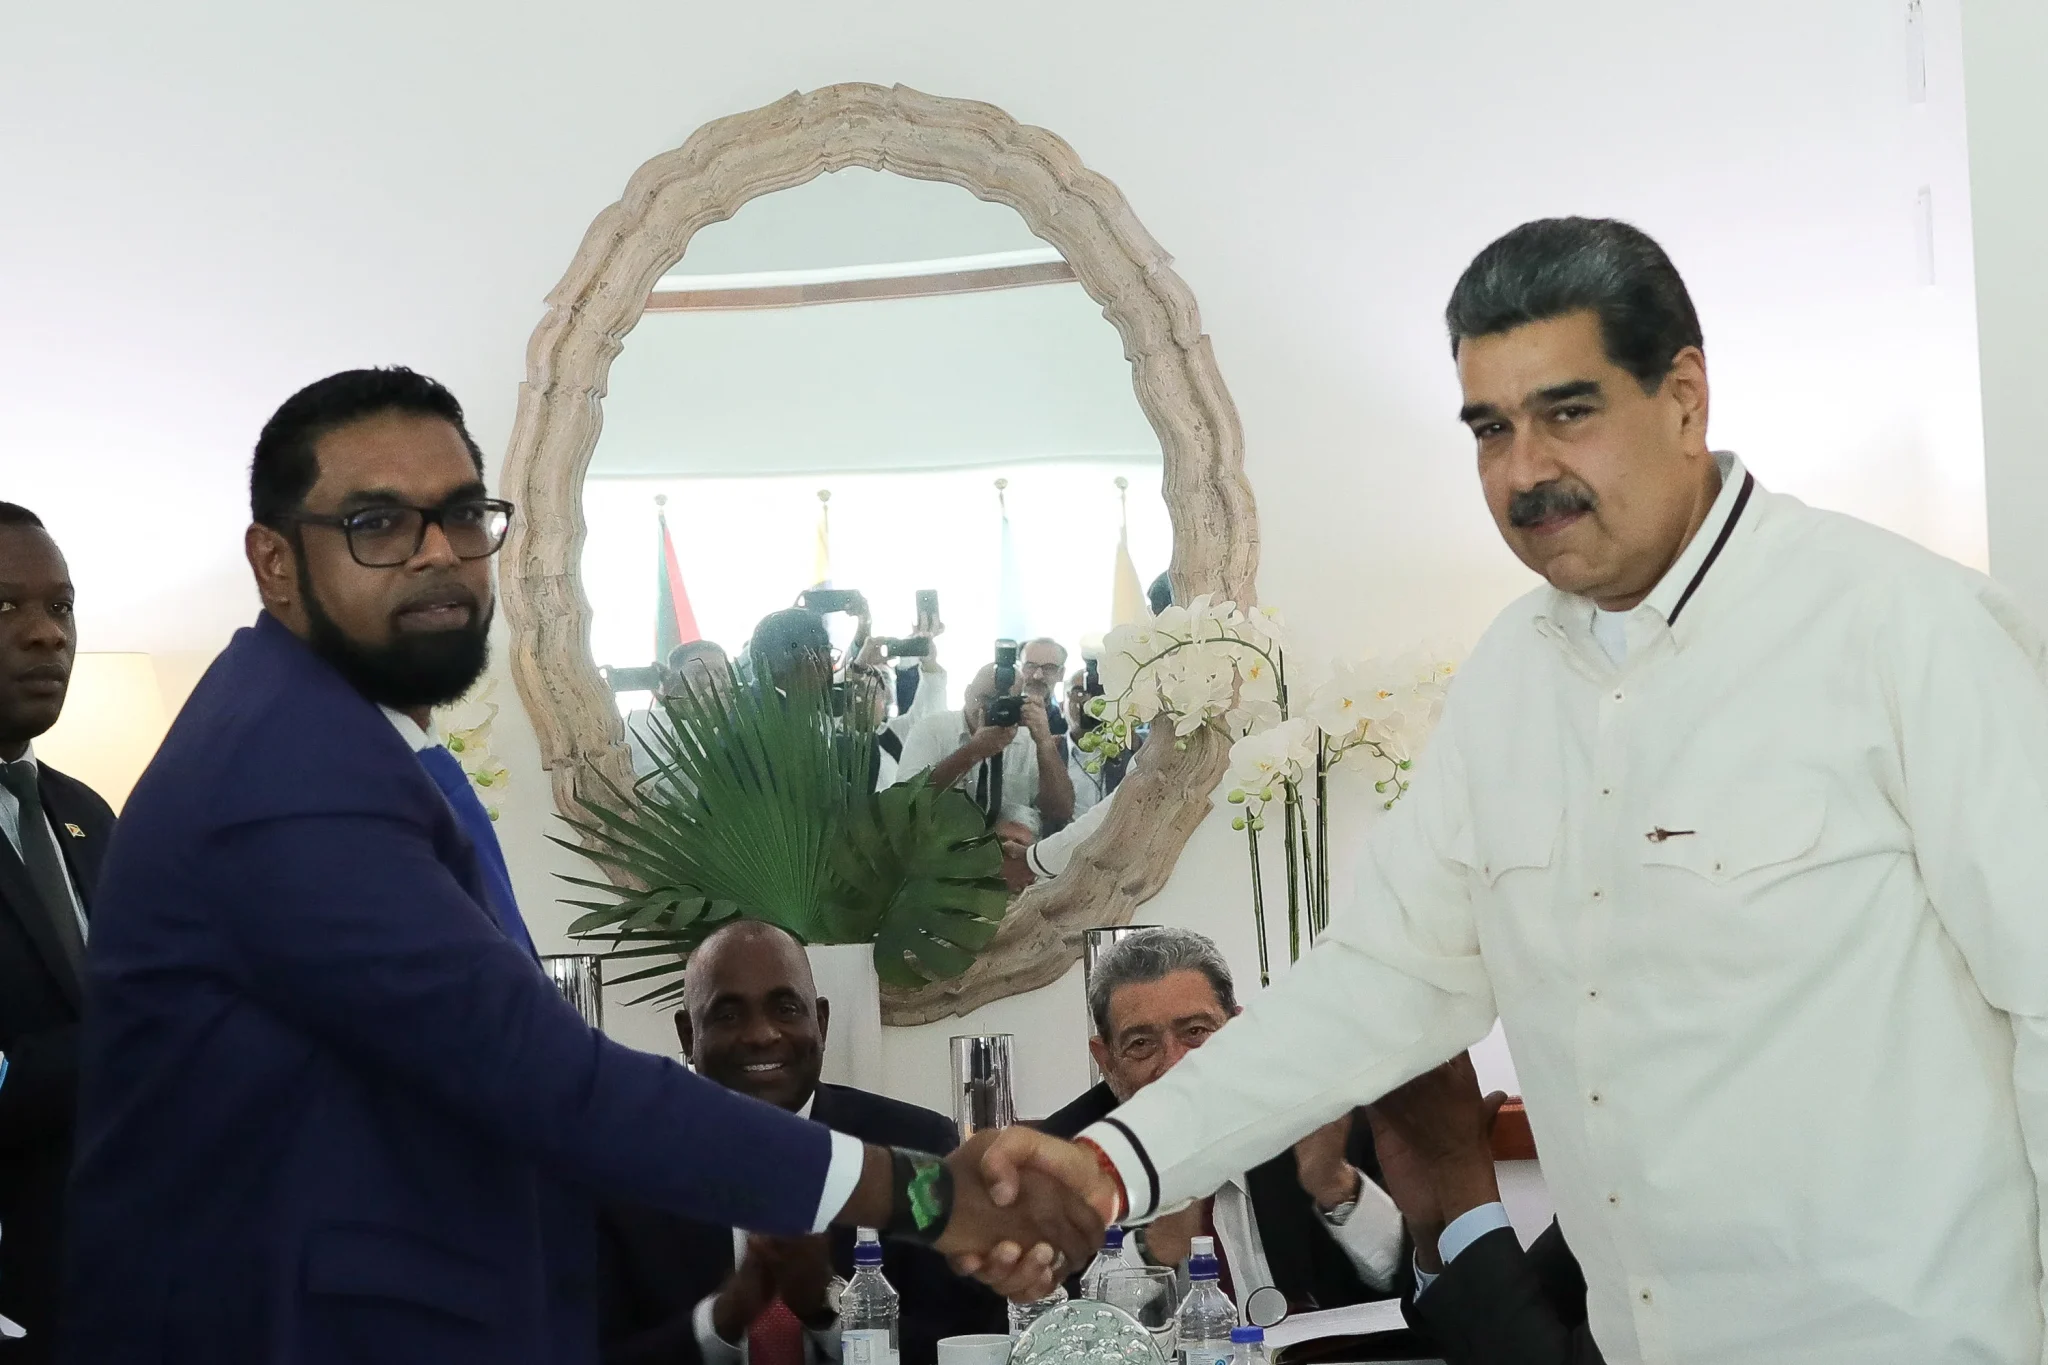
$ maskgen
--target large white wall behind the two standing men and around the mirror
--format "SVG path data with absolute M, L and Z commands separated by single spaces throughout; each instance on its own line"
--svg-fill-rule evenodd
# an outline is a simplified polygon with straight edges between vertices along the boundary
M 1929 0 L 1937 43 L 1952 6 Z M 1769 485 L 1980 559 L 1976 415 L 1956 401 L 1974 381 L 1962 160 L 1942 113 L 1958 94 L 1931 82 L 1931 108 L 1905 104 L 1901 10 L 8 6 L 6 495 L 70 548 L 88 647 L 217 647 L 254 610 L 246 452 L 291 389 L 406 360 L 502 450 L 541 299 L 633 168 L 707 119 L 877 80 L 1055 129 L 1178 256 L 1243 411 L 1262 591 L 1311 657 L 1470 636 L 1522 587 L 1452 422 L 1438 313 L 1479 246 L 1542 213 L 1626 215 L 1665 239 L 1706 319 L 1716 436 Z M 506 841 L 553 948 L 567 913 L 549 874 L 575 864 L 543 841 L 547 784 L 514 714 L 502 749 Z M 1249 966 L 1241 876 L 1212 825 L 1151 915 L 1217 931 Z M 987 1017 L 1049 1058 L 1026 1066 L 1026 1109 L 1077 1085 L 1071 986 Z M 891 1038 L 899 1089 L 924 1093 L 956 1027 Z M 621 1031 L 670 1044 L 662 1021 Z

